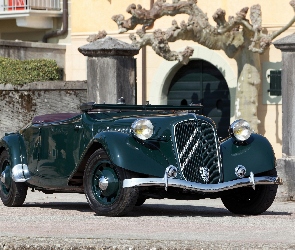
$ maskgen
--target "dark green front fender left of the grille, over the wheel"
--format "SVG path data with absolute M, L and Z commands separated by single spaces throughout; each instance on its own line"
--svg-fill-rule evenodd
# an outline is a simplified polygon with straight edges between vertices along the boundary
M 161 150 L 148 142 L 136 140 L 120 132 L 101 132 L 94 137 L 110 160 L 117 166 L 133 172 L 163 177 L 169 162 Z

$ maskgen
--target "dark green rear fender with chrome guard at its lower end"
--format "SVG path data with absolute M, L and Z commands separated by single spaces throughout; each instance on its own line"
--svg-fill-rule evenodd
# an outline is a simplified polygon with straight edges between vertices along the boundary
M 9 153 L 12 178 L 15 182 L 24 182 L 30 178 L 27 153 L 23 138 L 18 133 L 4 136 L 0 141 L 0 148 Z

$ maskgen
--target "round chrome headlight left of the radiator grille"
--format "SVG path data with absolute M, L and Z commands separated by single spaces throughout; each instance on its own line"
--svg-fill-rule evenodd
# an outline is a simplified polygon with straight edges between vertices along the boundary
M 135 122 L 132 123 L 131 129 L 141 140 L 147 140 L 149 139 L 154 132 L 154 126 L 152 122 L 148 119 L 138 119 Z

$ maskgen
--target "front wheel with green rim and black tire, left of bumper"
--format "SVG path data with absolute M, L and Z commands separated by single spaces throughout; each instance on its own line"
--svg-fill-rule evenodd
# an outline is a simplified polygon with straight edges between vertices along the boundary
M 107 187 L 103 187 L 104 178 L 107 178 Z M 122 216 L 133 209 L 138 188 L 123 188 L 123 180 L 129 178 L 130 173 L 114 166 L 102 149 L 90 156 L 84 172 L 84 191 L 97 215 Z

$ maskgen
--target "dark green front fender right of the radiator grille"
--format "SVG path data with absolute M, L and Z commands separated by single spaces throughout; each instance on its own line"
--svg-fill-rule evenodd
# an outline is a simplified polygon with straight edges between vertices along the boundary
M 258 134 L 252 134 L 247 145 L 236 145 L 233 138 L 220 145 L 223 166 L 223 181 L 237 179 L 235 168 L 243 165 L 246 176 L 250 172 L 259 174 L 275 168 L 275 156 L 269 141 Z

